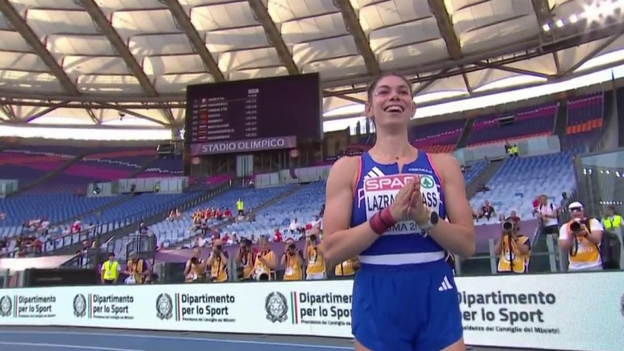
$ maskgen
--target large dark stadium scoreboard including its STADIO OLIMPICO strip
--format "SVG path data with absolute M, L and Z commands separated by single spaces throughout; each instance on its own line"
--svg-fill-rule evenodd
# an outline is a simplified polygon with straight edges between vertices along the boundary
M 290 149 L 321 140 L 318 74 L 187 87 L 185 144 L 192 156 Z

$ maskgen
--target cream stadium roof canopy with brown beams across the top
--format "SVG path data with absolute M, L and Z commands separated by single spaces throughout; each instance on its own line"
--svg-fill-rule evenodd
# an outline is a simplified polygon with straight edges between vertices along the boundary
M 0 0 L 0 121 L 106 126 L 123 114 L 128 124 L 180 127 L 188 84 L 306 72 L 321 74 L 325 112 L 363 102 L 381 71 L 437 98 L 560 81 L 622 61 L 621 6 Z

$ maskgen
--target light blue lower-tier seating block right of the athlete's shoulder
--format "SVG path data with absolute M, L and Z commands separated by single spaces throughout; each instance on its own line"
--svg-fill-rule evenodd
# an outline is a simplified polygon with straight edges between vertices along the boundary
M 537 195 L 545 194 L 550 202 L 558 204 L 562 192 L 572 193 L 575 187 L 572 166 L 572 152 L 560 152 L 541 156 L 505 159 L 499 171 L 487 182 L 489 192 L 479 192 L 470 199 L 473 209 L 478 209 L 485 200 L 499 214 L 509 215 L 515 210 L 522 219 L 532 218 L 532 201 Z M 480 219 L 479 223 L 484 223 Z

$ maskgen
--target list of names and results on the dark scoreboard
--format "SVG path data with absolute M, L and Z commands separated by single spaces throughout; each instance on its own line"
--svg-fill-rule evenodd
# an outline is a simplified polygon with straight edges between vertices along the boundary
M 190 141 L 218 142 L 262 137 L 258 123 L 259 89 L 246 96 L 193 99 Z

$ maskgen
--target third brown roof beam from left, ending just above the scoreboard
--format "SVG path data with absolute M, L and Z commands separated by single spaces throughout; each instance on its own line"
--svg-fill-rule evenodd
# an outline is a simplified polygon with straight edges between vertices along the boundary
M 219 65 L 217 61 L 212 57 L 210 51 L 206 47 L 205 41 L 197 32 L 197 29 L 191 23 L 191 20 L 188 18 L 187 13 L 184 11 L 184 8 L 180 4 L 178 0 L 160 0 L 164 4 L 169 7 L 169 11 L 171 12 L 173 18 L 180 26 L 185 34 L 187 34 L 188 40 L 191 42 L 191 45 L 197 52 L 197 54 L 202 57 L 203 64 L 206 66 L 210 74 L 215 78 L 215 81 L 222 82 L 225 81 L 225 77 L 223 76 L 223 72 L 219 69 Z

